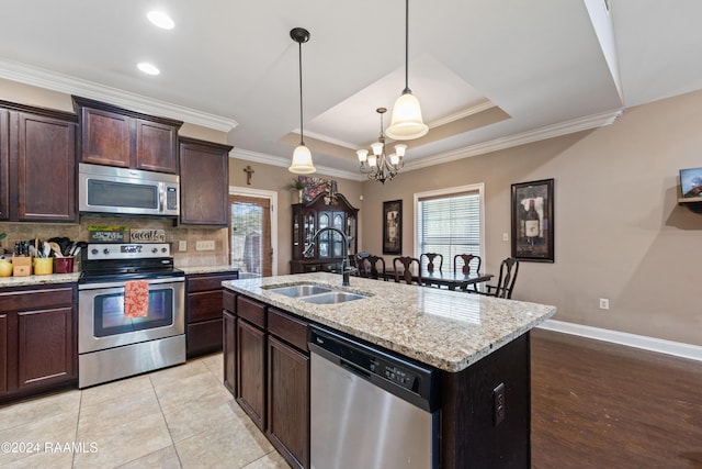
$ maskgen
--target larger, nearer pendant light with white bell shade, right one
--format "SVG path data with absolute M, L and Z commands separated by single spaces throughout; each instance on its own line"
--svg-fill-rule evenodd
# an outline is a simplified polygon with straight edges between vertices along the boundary
M 409 89 L 409 0 L 405 0 L 405 89 L 393 107 L 393 119 L 385 134 L 396 141 L 424 136 L 429 126 L 421 119 L 419 100 Z

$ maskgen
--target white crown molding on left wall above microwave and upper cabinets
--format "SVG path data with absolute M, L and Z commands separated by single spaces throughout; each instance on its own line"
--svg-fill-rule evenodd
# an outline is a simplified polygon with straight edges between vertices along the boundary
M 111 104 L 145 114 L 177 119 L 225 133 L 239 125 L 237 121 L 229 118 L 171 104 L 166 101 L 129 93 L 117 88 L 7 59 L 0 59 L 0 78 L 59 91 L 66 94 L 78 94 L 84 98 L 106 101 Z

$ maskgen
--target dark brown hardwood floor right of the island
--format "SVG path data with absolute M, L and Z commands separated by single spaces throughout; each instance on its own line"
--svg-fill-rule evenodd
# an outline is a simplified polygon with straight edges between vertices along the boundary
M 702 364 L 534 330 L 532 467 L 702 468 Z

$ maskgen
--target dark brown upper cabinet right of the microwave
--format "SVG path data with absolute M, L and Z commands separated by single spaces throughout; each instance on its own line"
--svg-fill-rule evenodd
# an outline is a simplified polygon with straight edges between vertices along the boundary
M 180 223 L 228 226 L 233 147 L 185 137 L 179 142 Z

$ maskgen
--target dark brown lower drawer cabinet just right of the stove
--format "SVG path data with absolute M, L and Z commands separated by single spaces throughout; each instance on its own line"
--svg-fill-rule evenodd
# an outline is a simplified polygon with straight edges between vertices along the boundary
M 222 350 L 222 282 L 238 278 L 238 271 L 185 277 L 189 358 Z

